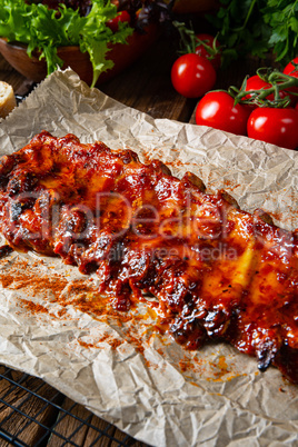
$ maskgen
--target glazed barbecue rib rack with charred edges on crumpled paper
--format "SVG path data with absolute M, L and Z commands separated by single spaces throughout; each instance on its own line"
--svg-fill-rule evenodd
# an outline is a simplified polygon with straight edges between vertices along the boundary
M 226 340 L 298 384 L 295 232 L 160 161 L 47 131 L 1 159 L 0 231 L 17 250 L 58 255 L 121 311 L 146 294 L 175 339 Z

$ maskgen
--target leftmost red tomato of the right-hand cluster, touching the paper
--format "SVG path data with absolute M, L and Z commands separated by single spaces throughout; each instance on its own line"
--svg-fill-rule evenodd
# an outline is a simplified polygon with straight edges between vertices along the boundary
M 241 105 L 235 106 L 234 102 L 234 98 L 226 91 L 209 91 L 198 103 L 197 125 L 246 135 L 251 109 Z

